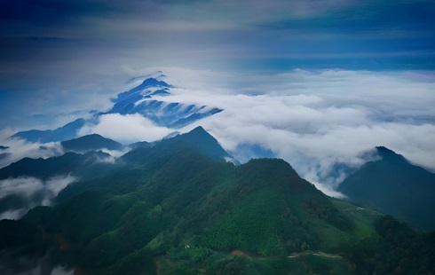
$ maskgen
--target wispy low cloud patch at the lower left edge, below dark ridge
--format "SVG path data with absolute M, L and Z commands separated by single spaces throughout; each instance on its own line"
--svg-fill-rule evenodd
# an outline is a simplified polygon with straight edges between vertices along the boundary
M 75 181 L 70 175 L 43 181 L 36 177 L 8 178 L 0 181 L 0 220 L 18 219 L 36 206 L 50 206 L 58 193 Z M 11 202 L 12 201 L 12 202 Z

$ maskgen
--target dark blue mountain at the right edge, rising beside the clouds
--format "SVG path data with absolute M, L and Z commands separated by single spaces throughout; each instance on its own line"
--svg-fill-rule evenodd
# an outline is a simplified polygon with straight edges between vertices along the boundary
M 344 179 L 337 191 L 363 206 L 378 208 L 421 230 L 435 229 L 435 174 L 379 146 L 369 161 Z

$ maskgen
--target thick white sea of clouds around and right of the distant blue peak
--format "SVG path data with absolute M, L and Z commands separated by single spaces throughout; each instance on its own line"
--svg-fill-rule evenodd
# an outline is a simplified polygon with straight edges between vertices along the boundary
M 169 83 L 183 89 L 173 89 L 171 96 L 159 100 L 224 109 L 184 130 L 202 125 L 241 161 L 256 156 L 255 152 L 241 152 L 241 148 L 260 146 L 289 161 L 323 191 L 343 180 L 343 173 L 328 177 L 337 164 L 357 168 L 370 159 L 367 152 L 377 145 L 435 170 L 435 83 L 431 71 L 297 69 L 277 75 L 230 75 L 166 68 L 164 72 Z M 106 117 L 93 130 L 110 135 L 105 126 L 113 123 L 123 125 L 124 133 L 143 131 L 142 137 L 146 129 L 154 132 L 154 139 L 167 132 L 144 123 L 140 127 L 140 123 L 130 123 L 131 119 Z

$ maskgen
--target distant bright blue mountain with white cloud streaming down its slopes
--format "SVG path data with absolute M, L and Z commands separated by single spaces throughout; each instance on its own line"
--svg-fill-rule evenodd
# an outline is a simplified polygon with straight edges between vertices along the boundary
M 12 135 L 28 142 L 48 143 L 79 138 L 79 131 L 85 125 L 94 125 L 99 117 L 105 114 L 140 114 L 158 126 L 178 129 L 201 120 L 204 117 L 218 114 L 223 109 L 212 106 L 197 106 L 163 100 L 171 95 L 174 86 L 160 80 L 165 75 L 158 72 L 146 78 L 138 86 L 119 93 L 112 98 L 114 105 L 106 112 L 93 114 L 91 118 L 79 118 L 55 130 L 25 130 Z

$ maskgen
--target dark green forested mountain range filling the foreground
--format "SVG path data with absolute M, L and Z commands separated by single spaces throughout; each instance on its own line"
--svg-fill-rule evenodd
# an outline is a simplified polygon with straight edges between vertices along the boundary
M 286 161 L 228 162 L 231 155 L 201 127 L 152 145 L 130 146 L 115 160 L 92 151 L 116 145 L 100 136 L 65 144 L 75 152 L 0 169 L 4 180 L 75 178 L 51 206 L 0 221 L 2 274 L 435 271 L 434 232 L 415 232 L 393 216 L 330 198 Z M 380 162 L 368 162 L 350 179 L 360 173 L 377 177 L 365 168 L 373 165 L 388 168 L 387 174 L 396 169 L 423 173 L 392 151 L 377 150 Z

